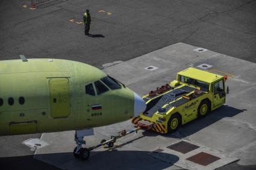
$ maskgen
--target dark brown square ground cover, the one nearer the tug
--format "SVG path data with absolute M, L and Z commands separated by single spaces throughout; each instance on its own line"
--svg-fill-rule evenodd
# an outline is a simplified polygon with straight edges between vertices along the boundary
M 193 151 L 193 150 L 195 150 L 199 147 L 197 145 L 193 145 L 193 144 L 190 144 L 190 143 L 185 142 L 185 141 L 180 141 L 176 144 L 170 145 L 167 148 L 169 148 L 171 150 L 178 151 L 178 152 L 183 153 L 183 154 L 186 154 L 186 153 L 189 153 L 190 151 Z

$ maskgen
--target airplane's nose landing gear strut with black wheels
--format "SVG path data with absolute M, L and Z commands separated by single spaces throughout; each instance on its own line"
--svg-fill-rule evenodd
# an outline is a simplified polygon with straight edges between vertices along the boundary
M 76 142 L 76 147 L 73 150 L 73 156 L 75 156 L 75 158 L 79 158 L 82 160 L 87 160 L 90 157 L 90 150 L 87 148 L 83 148 L 82 145 L 86 144 L 86 141 L 84 141 L 84 133 L 83 131 L 80 130 L 76 130 L 75 131 L 75 142 Z

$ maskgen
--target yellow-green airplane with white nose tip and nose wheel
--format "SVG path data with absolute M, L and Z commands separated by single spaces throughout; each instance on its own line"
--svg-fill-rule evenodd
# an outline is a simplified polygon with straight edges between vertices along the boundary
M 138 94 L 89 64 L 23 55 L 0 61 L 0 136 L 75 130 L 73 154 L 87 159 L 82 145 L 93 127 L 145 109 Z

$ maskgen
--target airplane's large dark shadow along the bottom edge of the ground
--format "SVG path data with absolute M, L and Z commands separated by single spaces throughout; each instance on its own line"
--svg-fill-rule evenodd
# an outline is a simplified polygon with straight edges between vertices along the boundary
M 33 156 L 17 156 L 0 158 L 0 168 L 21 170 L 59 170 L 61 169 L 166 169 L 173 166 L 149 155 L 149 151 L 92 151 L 88 160 L 75 159 L 73 153 L 52 153 Z M 158 153 L 160 157 L 168 157 L 170 162 L 179 160 L 173 154 Z M 47 163 L 46 163 L 47 162 Z M 58 166 L 55 167 L 55 166 Z

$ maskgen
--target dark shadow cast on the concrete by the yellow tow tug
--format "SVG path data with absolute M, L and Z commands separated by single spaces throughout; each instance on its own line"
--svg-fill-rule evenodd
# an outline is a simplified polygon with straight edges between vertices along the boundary
M 186 138 L 187 136 L 190 136 L 198 132 L 199 130 L 204 129 L 205 127 L 208 127 L 211 124 L 216 123 L 222 118 L 234 117 L 235 115 L 241 114 L 243 111 L 246 111 L 246 109 L 241 110 L 241 109 L 233 108 L 228 105 L 223 105 L 220 108 L 208 114 L 207 117 L 198 118 L 196 120 L 190 121 L 187 124 L 184 124 L 175 133 L 161 134 L 161 133 L 155 133 L 152 131 L 145 131 L 143 132 L 143 135 L 145 136 L 163 135 L 169 138 Z

